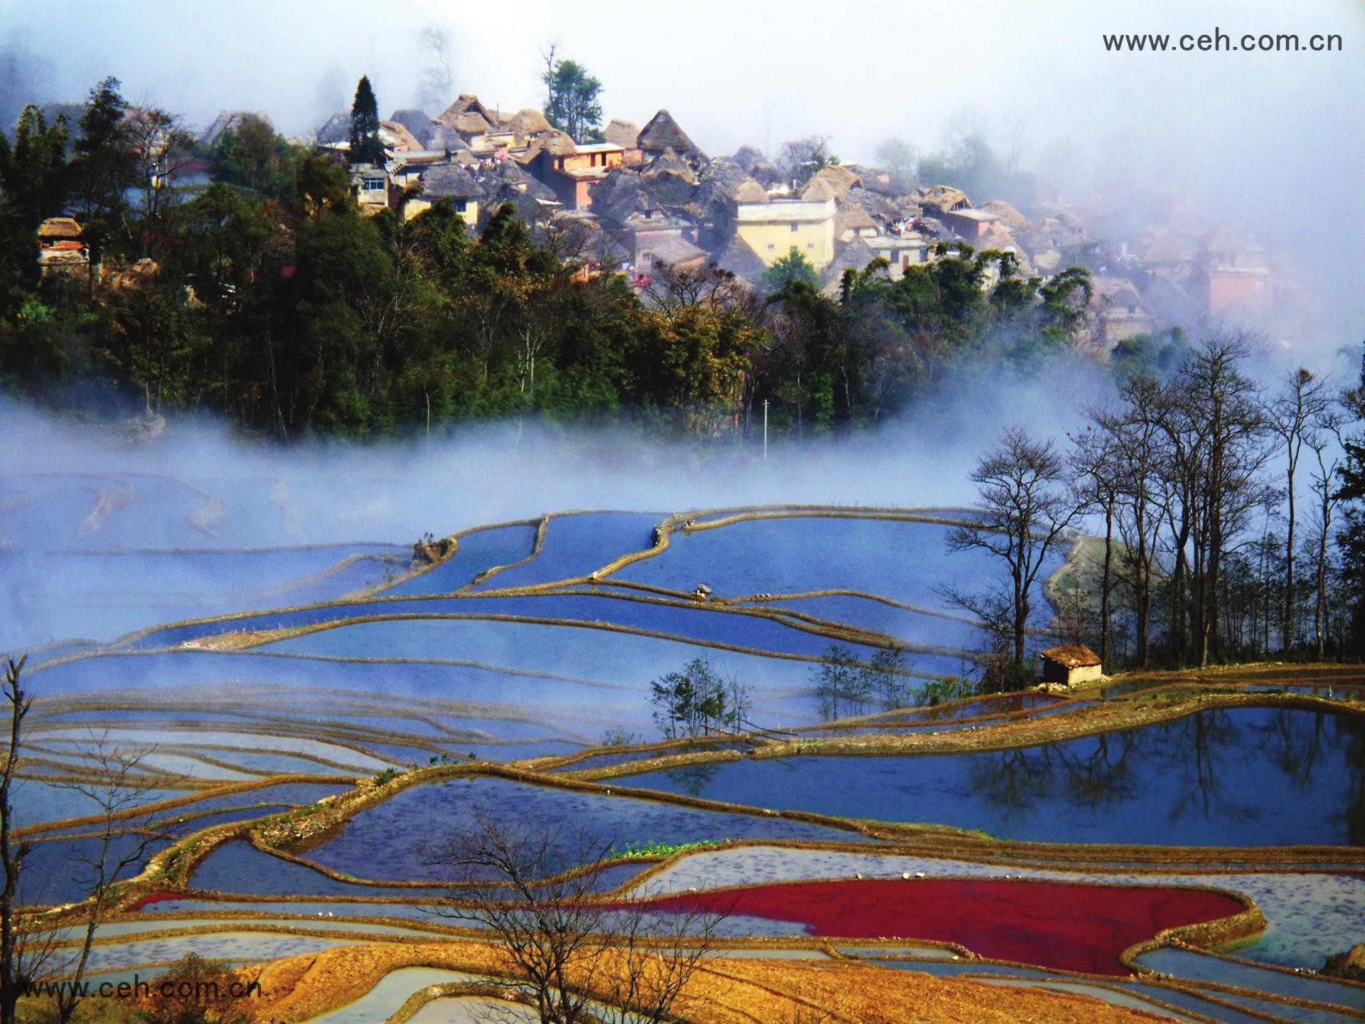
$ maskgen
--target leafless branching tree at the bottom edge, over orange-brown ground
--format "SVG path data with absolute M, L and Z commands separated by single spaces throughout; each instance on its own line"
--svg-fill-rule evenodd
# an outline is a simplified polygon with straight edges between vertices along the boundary
M 650 915 L 592 890 L 612 844 L 493 815 L 425 860 L 444 868 L 453 902 L 437 911 L 489 931 L 500 973 L 542 1024 L 658 1024 L 713 946 L 719 916 Z

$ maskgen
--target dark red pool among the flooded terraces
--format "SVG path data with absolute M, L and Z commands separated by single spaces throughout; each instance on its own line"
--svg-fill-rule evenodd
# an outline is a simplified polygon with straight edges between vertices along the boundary
M 1194 889 L 950 878 L 759 885 L 651 905 L 799 922 L 811 935 L 956 942 L 991 960 L 1096 975 L 1129 973 L 1119 953 L 1164 928 L 1244 909 Z

